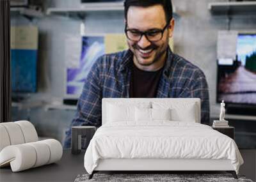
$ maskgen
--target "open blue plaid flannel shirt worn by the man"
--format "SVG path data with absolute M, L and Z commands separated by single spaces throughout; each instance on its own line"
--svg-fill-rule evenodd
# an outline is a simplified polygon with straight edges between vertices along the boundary
M 88 73 L 71 126 L 101 125 L 102 98 L 129 98 L 131 50 L 99 57 Z M 209 91 L 204 73 L 168 48 L 157 98 L 200 98 L 201 123 L 209 124 Z M 64 147 L 70 147 L 71 126 Z

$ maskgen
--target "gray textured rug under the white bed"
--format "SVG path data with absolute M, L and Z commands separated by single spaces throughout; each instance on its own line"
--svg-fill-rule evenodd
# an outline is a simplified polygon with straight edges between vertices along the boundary
M 88 174 L 78 175 L 75 182 L 93 182 L 93 181 L 171 181 L 171 182 L 190 182 L 190 181 L 210 181 L 210 182 L 226 182 L 226 181 L 243 181 L 253 182 L 251 179 L 246 179 L 244 176 L 238 176 L 239 179 L 234 179 L 232 174 L 94 174 L 92 179 L 88 179 Z

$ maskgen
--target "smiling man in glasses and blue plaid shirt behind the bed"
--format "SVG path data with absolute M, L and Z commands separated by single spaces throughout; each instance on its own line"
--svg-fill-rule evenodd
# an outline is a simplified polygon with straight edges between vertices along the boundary
M 168 40 L 174 19 L 170 0 L 126 0 L 125 34 L 129 50 L 100 57 L 84 83 L 72 126 L 101 125 L 102 98 L 200 98 L 201 123 L 209 122 L 204 73 L 173 54 Z M 65 147 L 70 146 L 70 130 Z

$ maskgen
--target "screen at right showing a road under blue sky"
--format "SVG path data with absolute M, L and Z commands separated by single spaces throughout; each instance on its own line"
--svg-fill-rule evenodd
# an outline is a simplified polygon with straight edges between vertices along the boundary
M 218 61 L 217 101 L 256 105 L 256 34 L 238 34 L 236 57 Z

